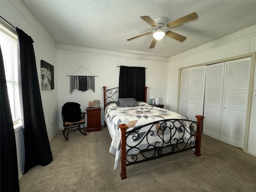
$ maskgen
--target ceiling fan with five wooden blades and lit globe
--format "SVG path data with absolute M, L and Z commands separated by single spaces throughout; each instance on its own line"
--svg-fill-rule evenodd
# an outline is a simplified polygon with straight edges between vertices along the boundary
M 135 38 L 153 33 L 153 39 L 152 39 L 152 42 L 151 42 L 150 47 L 149 47 L 151 49 L 151 48 L 154 48 L 154 46 L 156 44 L 156 40 L 162 39 L 165 35 L 167 35 L 171 38 L 174 38 L 174 39 L 176 39 L 180 42 L 183 42 L 186 39 L 185 36 L 182 36 L 178 33 L 172 32 L 169 29 L 172 28 L 172 27 L 181 25 L 183 23 L 192 21 L 194 19 L 197 19 L 198 15 L 196 14 L 196 12 L 190 13 L 186 16 L 183 16 L 181 18 L 178 18 L 178 19 L 173 20 L 173 21 L 168 22 L 168 23 L 167 23 L 167 18 L 162 17 L 162 16 L 154 18 L 154 19 L 151 19 L 150 16 L 141 16 L 140 18 L 142 18 L 144 21 L 146 21 L 148 24 L 150 24 L 153 27 L 154 31 L 149 31 L 149 32 L 137 35 L 135 37 L 129 38 L 127 40 L 130 41 L 130 40 L 133 40 Z

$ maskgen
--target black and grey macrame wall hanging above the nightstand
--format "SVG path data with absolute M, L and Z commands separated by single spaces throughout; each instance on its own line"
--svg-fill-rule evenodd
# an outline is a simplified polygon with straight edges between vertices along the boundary
M 85 67 L 82 66 L 80 68 L 85 68 Z M 78 70 L 80 70 L 80 68 Z M 77 72 L 78 70 L 76 70 L 75 72 Z M 88 71 L 88 72 L 90 74 L 92 74 L 90 71 Z M 70 76 L 70 94 L 75 89 L 80 90 L 82 92 L 91 89 L 93 92 L 95 92 L 95 80 L 94 80 L 94 77 L 98 77 L 98 76 L 94 76 L 93 74 L 92 74 L 93 76 L 73 76 L 74 73 L 72 73 L 71 75 L 67 75 L 67 76 Z

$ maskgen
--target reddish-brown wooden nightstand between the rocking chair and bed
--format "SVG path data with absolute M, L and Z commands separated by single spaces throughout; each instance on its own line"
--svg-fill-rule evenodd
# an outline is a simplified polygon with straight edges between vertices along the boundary
M 100 107 L 87 107 L 87 132 L 101 131 Z

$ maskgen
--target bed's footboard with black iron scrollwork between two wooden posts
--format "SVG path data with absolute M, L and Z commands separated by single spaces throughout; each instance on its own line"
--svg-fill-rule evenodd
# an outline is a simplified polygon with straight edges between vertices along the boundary
M 196 116 L 197 122 L 182 119 L 167 119 L 135 127 L 126 132 L 121 130 L 121 179 L 127 178 L 126 165 L 194 149 L 200 156 L 203 116 Z

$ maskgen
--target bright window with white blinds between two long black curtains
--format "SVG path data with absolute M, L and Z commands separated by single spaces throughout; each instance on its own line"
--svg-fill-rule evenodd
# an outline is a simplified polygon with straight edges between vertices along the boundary
M 14 128 L 20 126 L 21 123 L 20 99 L 18 90 L 17 42 L 18 36 L 4 26 L 0 25 L 0 45 L 4 60 L 6 84 Z

